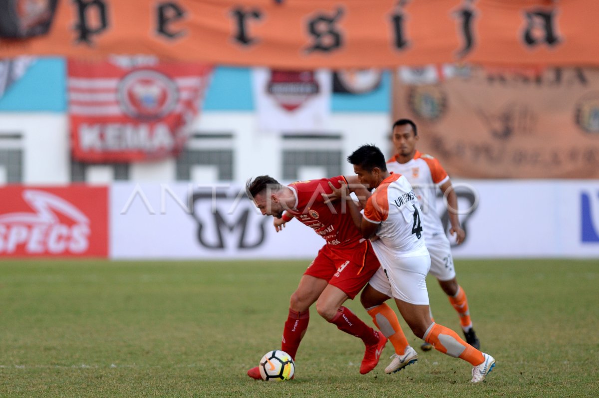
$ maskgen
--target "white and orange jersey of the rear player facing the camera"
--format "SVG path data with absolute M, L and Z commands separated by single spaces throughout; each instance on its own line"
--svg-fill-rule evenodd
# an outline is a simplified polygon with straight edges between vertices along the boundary
M 395 156 L 387 162 L 388 171 L 402 174 L 407 178 L 418 197 L 422 209 L 422 229 L 427 238 L 439 235 L 443 223 L 437 213 L 437 186 L 449 181 L 449 175 L 441 163 L 434 157 L 416 151 L 413 159 L 407 163 L 399 163 Z

